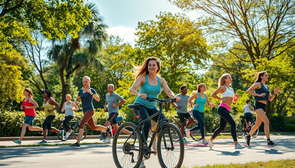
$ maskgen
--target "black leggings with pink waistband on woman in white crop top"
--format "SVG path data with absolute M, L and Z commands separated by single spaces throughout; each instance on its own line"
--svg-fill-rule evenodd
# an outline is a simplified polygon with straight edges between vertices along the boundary
M 232 119 L 230 112 L 226 108 L 219 106 L 217 108 L 217 113 L 220 116 L 220 122 L 219 122 L 219 127 L 214 131 L 212 138 L 215 139 L 225 129 L 226 123 L 229 123 L 232 139 L 234 139 L 234 142 L 236 142 L 237 141 L 236 123 L 234 119 Z

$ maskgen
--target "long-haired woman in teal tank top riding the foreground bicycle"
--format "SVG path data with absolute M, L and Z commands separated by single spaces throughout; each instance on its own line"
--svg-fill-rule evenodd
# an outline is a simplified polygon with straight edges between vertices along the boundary
M 180 97 L 175 96 L 171 89 L 168 87 L 165 79 L 159 77 L 161 71 L 161 64 L 158 58 L 148 57 L 144 60 L 141 66 L 134 66 L 133 68 L 135 75 L 135 82 L 129 89 L 130 93 L 137 96 L 134 104 L 142 104 L 138 111 L 138 115 L 142 120 L 147 119 L 151 115 L 159 112 L 160 110 L 157 107 L 157 102 L 145 101 L 146 97 L 158 98 L 161 93 L 161 90 L 166 92 L 168 97 L 175 98 L 178 102 Z M 137 91 L 138 87 L 139 92 Z M 136 113 L 136 112 L 134 112 Z M 154 122 L 157 122 L 159 115 L 152 118 Z M 145 140 L 148 139 L 149 130 L 151 128 L 151 121 L 148 120 L 144 123 L 143 132 L 145 134 Z M 152 128 L 154 130 L 155 127 Z M 157 142 L 154 141 L 152 148 L 154 151 L 157 151 Z M 144 162 L 142 161 L 140 167 L 145 167 Z

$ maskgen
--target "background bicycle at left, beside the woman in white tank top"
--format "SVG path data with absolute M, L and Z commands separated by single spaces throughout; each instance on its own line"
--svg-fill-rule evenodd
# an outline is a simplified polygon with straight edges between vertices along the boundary
M 74 129 L 72 129 L 72 132 L 71 132 L 71 134 L 70 134 L 70 136 L 69 137 L 75 137 L 77 140 L 78 140 L 78 137 L 79 137 L 79 125 L 80 125 L 80 119 L 82 118 L 82 117 L 78 117 L 78 116 L 75 116 L 75 118 L 77 118 L 77 121 L 70 121 L 69 123 L 71 124 L 71 123 L 73 123 L 73 122 L 75 122 L 75 125 L 74 125 L 74 127 L 72 127 L 72 128 L 74 128 Z M 61 121 L 61 125 L 58 127 L 58 130 L 65 130 L 65 126 L 63 125 L 63 121 Z M 65 131 L 64 131 L 64 135 L 63 135 L 63 137 L 65 137 Z M 85 137 L 86 137 L 86 135 L 87 135 L 87 129 L 86 129 L 86 127 L 84 126 L 84 133 L 83 133 L 83 137 L 81 138 L 81 140 L 83 140 L 83 139 L 85 139 Z M 61 139 L 61 134 L 60 133 L 57 133 L 57 136 L 58 136 L 58 138 L 60 139 L 60 140 L 62 140 L 62 141 L 65 141 L 65 140 L 67 140 L 67 139 Z

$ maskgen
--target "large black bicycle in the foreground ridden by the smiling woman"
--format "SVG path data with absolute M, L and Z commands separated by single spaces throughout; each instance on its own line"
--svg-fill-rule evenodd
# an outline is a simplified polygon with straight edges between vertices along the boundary
M 142 104 L 129 104 L 128 108 L 137 112 L 136 117 L 139 119 L 140 124 L 137 126 L 132 122 L 125 122 L 116 131 L 113 139 L 113 158 L 118 168 L 134 167 L 138 168 L 141 161 L 150 158 L 150 154 L 158 153 L 158 160 L 162 168 L 173 167 L 180 168 L 184 157 L 184 144 L 180 130 L 165 117 L 162 104 L 165 102 L 176 102 L 174 99 L 156 99 L 147 97 L 144 99 L 150 102 L 158 102 L 160 111 L 148 117 L 144 121 L 138 115 L 138 110 Z M 152 138 L 148 144 L 145 140 L 143 124 L 151 118 L 159 115 L 155 129 L 152 132 Z M 128 134 L 124 129 L 131 132 Z M 123 132 L 121 132 L 123 130 Z M 158 134 L 157 151 L 151 151 L 154 138 Z M 127 138 L 127 139 L 126 139 Z M 137 160 L 134 157 L 137 156 Z

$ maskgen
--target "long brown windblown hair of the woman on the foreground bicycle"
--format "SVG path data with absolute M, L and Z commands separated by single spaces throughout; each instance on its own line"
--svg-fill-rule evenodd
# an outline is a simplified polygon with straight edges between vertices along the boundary
M 157 69 L 157 76 L 160 76 L 160 71 L 161 71 L 161 63 L 159 61 L 158 58 L 151 56 L 145 59 L 145 61 L 143 61 L 143 64 L 141 66 L 137 66 L 137 65 L 133 65 L 133 74 L 135 76 L 135 80 L 141 76 L 141 75 L 145 75 L 145 74 L 149 74 L 148 72 L 148 63 L 150 61 L 156 61 L 159 69 Z

